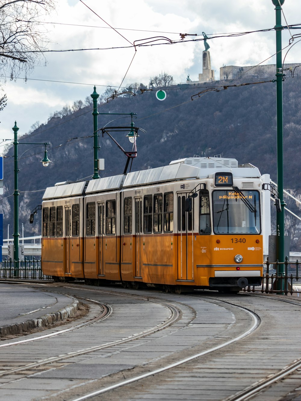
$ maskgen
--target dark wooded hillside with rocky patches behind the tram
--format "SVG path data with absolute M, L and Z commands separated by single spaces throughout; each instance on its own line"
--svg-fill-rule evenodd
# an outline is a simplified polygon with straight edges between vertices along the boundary
M 268 81 L 274 77 L 265 77 Z M 263 79 L 257 79 L 262 81 Z M 256 78 L 254 78 L 256 81 Z M 244 81 L 223 82 L 222 85 L 236 85 Z M 214 82 L 214 86 L 219 83 Z M 205 85 L 204 85 L 205 86 Z M 203 91 L 204 87 L 193 85 L 167 88 L 167 99 L 158 101 L 155 91 L 145 91 L 136 96 L 117 97 L 100 105 L 100 113 L 137 113 L 135 125 L 146 130 L 137 140 L 138 157 L 134 159 L 132 171 L 169 164 L 171 160 L 193 156 L 214 156 L 236 158 L 239 164 L 252 163 L 262 174 L 268 173 L 277 182 L 276 170 L 276 83 L 229 87 L 219 92 L 211 91 L 200 98 L 191 96 Z M 220 87 L 219 89 L 223 89 Z M 301 187 L 301 170 L 297 150 L 301 140 L 301 80 L 287 77 L 283 83 L 284 116 L 284 182 L 295 196 Z M 98 89 L 96 89 L 98 91 Z M 93 88 L 89 93 L 92 93 Z M 87 95 L 89 95 L 87 93 Z M 86 102 L 87 103 L 87 102 Z M 80 103 L 83 106 L 83 103 Z M 24 223 L 24 235 L 38 235 L 41 232 L 41 215 L 37 215 L 33 225 L 29 225 L 31 211 L 41 204 L 43 189 L 56 182 L 80 180 L 92 176 L 93 158 L 93 116 L 92 105 L 81 107 L 67 115 L 56 113 L 49 122 L 40 126 L 31 135 L 20 136 L 20 143 L 50 142 L 48 152 L 52 161 L 44 168 L 39 160 L 43 158 L 43 147 L 34 145 L 18 146 L 19 161 L 19 203 L 20 227 Z M 130 124 L 128 117 L 99 115 L 98 128 Z M 36 116 L 38 118 L 38 116 Z M 12 122 L 12 126 L 13 126 Z M 22 134 L 22 121 L 17 121 Z M 130 150 L 130 142 L 124 134 L 116 134 L 116 139 Z M 73 138 L 73 139 L 71 139 Z M 76 138 L 76 139 L 75 139 Z M 120 174 L 124 170 L 126 158 L 108 136 L 99 139 L 99 157 L 105 159 L 102 176 Z M 27 152 L 25 152 L 29 149 Z M 22 156 L 22 153 L 25 152 Z M 36 154 L 37 152 L 41 152 Z M 33 156 L 31 156 L 33 155 Z M 4 195 L 1 213 L 4 214 L 4 237 L 10 224 L 13 232 L 14 163 L 13 149 L 4 159 Z M 30 157 L 28 157 L 30 156 Z M 87 178 L 89 179 L 89 178 Z M 42 190 L 42 191 L 40 191 Z M 39 191 L 39 192 L 35 192 Z M 7 196 L 10 196 L 6 198 Z M 298 195 L 297 195 L 298 197 Z M 3 199 L 4 198 L 4 199 Z M 290 205 L 298 214 L 298 208 Z M 298 221 L 287 218 L 290 235 L 297 247 L 300 228 Z M 21 229 L 20 229 L 21 231 Z M 299 245 L 298 245 L 299 246 Z

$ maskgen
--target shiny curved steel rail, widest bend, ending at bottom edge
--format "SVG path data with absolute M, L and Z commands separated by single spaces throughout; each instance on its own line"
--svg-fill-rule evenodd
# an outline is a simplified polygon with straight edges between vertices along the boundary
M 220 302 L 224 302 L 224 301 L 221 301 L 221 300 L 220 300 Z M 260 318 L 259 318 L 259 316 L 258 316 L 257 314 L 255 314 L 254 312 L 248 310 L 247 308 L 243 308 L 243 307 L 241 307 L 241 306 L 238 306 L 238 305 L 235 305 L 235 304 L 231 304 L 230 302 L 224 302 L 224 303 L 227 303 L 227 304 L 230 304 L 230 305 L 232 305 L 232 306 L 234 306 L 234 307 L 236 307 L 236 308 L 242 309 L 242 310 L 246 311 L 248 314 L 250 314 L 250 315 L 252 316 L 253 320 L 254 320 L 254 323 L 253 323 L 252 327 L 249 328 L 248 330 L 246 330 L 244 333 L 240 334 L 240 336 L 235 337 L 235 338 L 233 338 L 232 340 L 229 340 L 229 341 L 227 341 L 227 342 L 224 342 L 223 344 L 220 344 L 220 345 L 218 345 L 218 346 L 215 346 L 215 347 L 213 347 L 213 348 L 210 348 L 210 349 L 205 350 L 205 351 L 203 351 L 203 352 L 200 352 L 200 353 L 198 353 L 198 354 L 189 356 L 188 358 L 181 359 L 181 360 L 179 360 L 179 361 L 177 361 L 177 362 L 175 362 L 175 363 L 172 363 L 171 365 L 167 365 L 167 366 L 162 367 L 162 368 L 160 368 L 160 369 L 156 369 L 156 370 L 154 370 L 154 371 L 150 371 L 150 372 L 148 372 L 148 373 L 144 373 L 143 375 L 139 375 L 139 376 L 136 376 L 136 377 L 132 377 L 131 379 L 121 381 L 121 382 L 116 383 L 116 384 L 114 384 L 114 385 L 111 385 L 111 386 L 109 386 L 109 387 L 105 387 L 105 388 L 103 388 L 103 389 L 94 391 L 93 393 L 89 393 L 89 394 L 83 395 L 82 397 L 73 399 L 72 401 L 83 401 L 83 400 L 86 400 L 86 399 L 95 397 L 96 395 L 106 393 L 107 391 L 110 391 L 110 390 L 113 390 L 113 389 L 117 389 L 118 387 L 122 387 L 122 386 L 124 386 L 124 385 L 130 384 L 130 383 L 134 383 L 134 382 L 139 381 L 139 380 L 141 380 L 141 379 L 145 379 L 146 377 L 153 376 L 153 375 L 156 375 L 156 374 L 158 374 L 158 373 L 167 371 L 167 370 L 172 369 L 172 368 L 175 368 L 175 367 L 177 367 L 177 366 L 179 366 L 179 365 L 183 365 L 184 363 L 189 362 L 190 360 L 199 358 L 200 356 L 209 354 L 209 353 L 211 353 L 211 352 L 214 352 L 214 351 L 216 351 L 216 350 L 219 350 L 219 349 L 221 349 L 221 348 L 224 348 L 225 346 L 228 346 L 228 345 L 230 345 L 230 344 L 233 344 L 233 343 L 236 342 L 236 341 L 241 340 L 242 338 L 244 338 L 244 337 L 248 336 L 249 334 L 251 334 L 251 333 L 252 333 L 254 330 L 256 330 L 256 328 L 259 326 L 259 324 L 260 324 Z

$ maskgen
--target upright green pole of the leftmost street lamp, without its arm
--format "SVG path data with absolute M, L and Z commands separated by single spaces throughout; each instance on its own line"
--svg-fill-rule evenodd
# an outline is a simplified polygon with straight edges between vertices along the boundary
M 19 190 L 18 190 L 18 130 L 16 121 L 14 122 L 14 277 L 19 269 Z

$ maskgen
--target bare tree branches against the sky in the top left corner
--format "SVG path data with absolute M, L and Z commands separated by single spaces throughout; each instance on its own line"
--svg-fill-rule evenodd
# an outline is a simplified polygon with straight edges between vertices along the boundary
M 0 0 L 1 75 L 17 77 L 31 71 L 46 50 L 42 14 L 54 9 L 56 0 Z

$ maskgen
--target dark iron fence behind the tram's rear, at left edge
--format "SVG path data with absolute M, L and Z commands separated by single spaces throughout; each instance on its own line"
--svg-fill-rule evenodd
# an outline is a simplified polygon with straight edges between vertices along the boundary
M 51 276 L 44 275 L 41 267 L 41 259 L 28 259 L 12 261 L 4 259 L 1 262 L 0 278 L 6 279 L 31 279 L 49 280 Z

